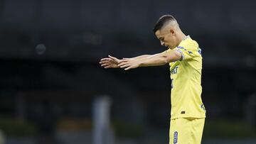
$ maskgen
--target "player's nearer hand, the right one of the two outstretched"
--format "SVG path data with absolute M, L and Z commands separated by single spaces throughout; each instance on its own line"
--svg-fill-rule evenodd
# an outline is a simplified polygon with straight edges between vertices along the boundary
M 130 70 L 139 67 L 139 60 L 133 60 L 131 58 L 123 58 L 120 60 L 118 66 L 124 68 L 124 70 Z

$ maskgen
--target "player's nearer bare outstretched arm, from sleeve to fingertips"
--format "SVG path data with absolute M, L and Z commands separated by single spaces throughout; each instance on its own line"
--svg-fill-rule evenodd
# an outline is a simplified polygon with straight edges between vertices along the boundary
M 124 68 L 124 70 L 130 70 L 137 67 L 149 67 L 149 66 L 158 66 L 158 65 L 165 65 L 169 62 L 175 62 L 176 60 L 181 60 L 182 56 L 181 53 L 174 50 L 171 52 L 166 53 L 159 53 L 156 55 L 151 55 L 150 57 L 146 57 L 139 60 L 134 59 L 123 59 L 119 61 L 120 68 Z

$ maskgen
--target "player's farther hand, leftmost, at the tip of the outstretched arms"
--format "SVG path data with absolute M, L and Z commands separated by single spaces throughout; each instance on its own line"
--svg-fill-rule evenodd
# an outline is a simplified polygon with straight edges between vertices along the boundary
M 100 65 L 102 67 L 104 67 L 105 69 L 119 68 L 119 66 L 118 66 L 119 62 L 120 62 L 120 60 L 117 59 L 116 57 L 112 57 L 112 56 L 108 55 L 108 57 L 102 58 L 100 60 Z

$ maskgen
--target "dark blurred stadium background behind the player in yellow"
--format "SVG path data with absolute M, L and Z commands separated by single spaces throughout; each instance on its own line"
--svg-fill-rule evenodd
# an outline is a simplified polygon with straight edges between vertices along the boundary
M 168 65 L 127 72 L 98 64 L 107 55 L 164 51 L 152 31 L 164 14 L 202 49 L 202 143 L 256 143 L 255 6 L 252 0 L 0 0 L 0 143 L 97 144 L 99 99 L 110 109 L 102 110 L 109 121 L 104 143 L 168 143 Z

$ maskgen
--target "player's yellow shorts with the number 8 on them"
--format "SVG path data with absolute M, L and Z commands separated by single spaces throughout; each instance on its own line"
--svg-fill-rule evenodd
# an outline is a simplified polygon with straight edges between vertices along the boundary
M 171 119 L 169 144 L 200 144 L 205 118 Z

